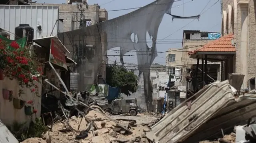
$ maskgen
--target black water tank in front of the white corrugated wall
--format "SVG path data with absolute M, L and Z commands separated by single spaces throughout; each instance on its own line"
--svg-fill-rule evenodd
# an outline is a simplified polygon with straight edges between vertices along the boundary
M 34 28 L 29 24 L 20 24 L 15 28 L 15 40 L 23 38 L 23 35 L 28 37 L 27 45 L 32 44 L 34 39 Z

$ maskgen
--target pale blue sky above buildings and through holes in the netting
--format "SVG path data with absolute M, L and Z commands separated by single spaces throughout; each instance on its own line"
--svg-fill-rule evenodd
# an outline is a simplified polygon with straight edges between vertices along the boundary
M 67 0 L 36 0 L 37 3 L 62 4 Z M 119 10 L 127 8 L 142 7 L 150 4 L 154 0 L 88 0 L 89 5 L 99 4 L 100 8 L 108 10 Z M 182 48 L 182 33 L 183 30 L 200 30 L 210 32 L 220 32 L 222 23 L 221 0 L 175 0 L 172 5 L 172 14 L 176 16 L 196 16 L 200 14 L 200 18 L 192 21 L 192 19 L 174 19 L 172 16 L 164 14 L 164 18 L 158 29 L 156 48 L 158 52 L 168 51 L 169 48 Z M 122 10 L 108 12 L 108 19 L 122 16 L 133 10 Z M 191 22 L 192 21 L 192 22 Z M 170 36 L 168 36 L 170 35 Z M 167 37 L 168 36 L 168 37 Z M 147 37 L 147 42 L 150 42 L 150 37 Z M 152 41 L 151 41 L 152 43 Z M 151 45 L 148 43 L 148 45 Z M 108 50 L 107 55 L 119 55 L 120 47 Z M 128 52 L 124 56 L 125 63 L 137 63 L 136 52 Z M 108 56 L 109 63 L 115 60 L 120 62 L 118 56 Z M 153 63 L 161 65 L 166 64 L 166 53 L 158 53 L 158 57 Z

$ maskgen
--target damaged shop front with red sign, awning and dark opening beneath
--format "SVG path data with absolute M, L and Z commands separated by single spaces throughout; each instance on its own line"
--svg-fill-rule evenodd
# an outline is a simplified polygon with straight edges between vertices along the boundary
M 70 89 L 70 67 L 76 63 L 66 57 L 66 53 L 69 51 L 60 42 L 58 37 L 44 37 L 33 40 L 37 45 L 35 48 L 35 53 L 39 58 L 41 68 L 43 71 L 44 79 L 48 79 L 54 86 L 63 89 L 60 80 L 54 73 L 51 65 L 56 69 L 60 75 L 63 82 L 66 84 L 68 90 Z M 39 45 L 39 46 L 38 46 Z M 45 81 L 42 82 L 42 112 L 41 114 L 46 114 L 54 111 L 58 108 L 58 100 L 62 99 L 65 101 L 66 98 L 64 94 L 47 84 Z M 62 101 L 62 100 L 60 100 Z M 63 102 L 64 102 L 63 101 Z

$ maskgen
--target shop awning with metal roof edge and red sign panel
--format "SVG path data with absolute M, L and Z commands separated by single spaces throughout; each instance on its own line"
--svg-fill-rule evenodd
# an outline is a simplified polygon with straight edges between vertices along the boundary
M 64 69 L 68 71 L 66 65 L 66 53 L 70 53 L 68 49 L 61 43 L 56 36 L 38 38 L 33 40 L 36 44 L 49 50 L 49 62 L 54 65 L 56 69 Z M 69 60 L 70 61 L 70 60 Z M 72 61 L 71 61 L 72 63 Z

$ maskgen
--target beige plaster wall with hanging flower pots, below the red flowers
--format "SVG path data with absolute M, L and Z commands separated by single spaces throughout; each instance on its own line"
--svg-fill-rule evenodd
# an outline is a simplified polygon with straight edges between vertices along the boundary
M 40 83 L 36 83 L 39 90 L 39 95 L 36 96 L 34 93 L 31 93 L 31 89 L 24 88 L 23 91 L 26 94 L 22 94 L 22 96 L 18 96 L 19 86 L 17 80 L 10 80 L 8 78 L 4 78 L 4 80 L 0 80 L 0 119 L 3 121 L 4 124 L 10 125 L 14 121 L 18 121 L 19 123 L 23 123 L 25 121 L 30 121 L 31 116 L 26 116 L 24 112 L 24 107 L 22 109 L 15 109 L 13 106 L 13 101 L 4 100 L 2 90 L 12 90 L 13 97 L 18 98 L 20 100 L 28 100 L 34 101 L 34 109 L 37 110 L 36 114 L 32 115 L 32 118 L 35 119 L 40 118 L 41 113 L 41 91 L 42 85 Z

